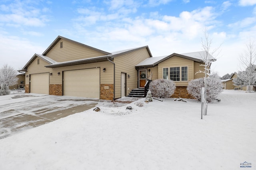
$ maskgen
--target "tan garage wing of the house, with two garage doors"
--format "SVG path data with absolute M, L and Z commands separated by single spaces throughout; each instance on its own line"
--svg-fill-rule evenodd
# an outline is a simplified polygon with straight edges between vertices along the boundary
M 26 93 L 113 100 L 137 88 L 134 66 L 150 57 L 148 46 L 108 53 L 58 36 L 19 71 Z

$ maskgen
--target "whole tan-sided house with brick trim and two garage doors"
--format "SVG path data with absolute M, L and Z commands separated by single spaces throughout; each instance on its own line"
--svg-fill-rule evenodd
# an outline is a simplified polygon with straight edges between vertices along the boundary
M 113 100 L 144 88 L 152 72 L 152 80 L 174 80 L 174 96 L 190 98 L 188 82 L 204 77 L 195 74 L 204 69 L 202 55 L 204 52 L 152 57 L 148 46 L 109 53 L 58 36 L 19 71 L 26 74 L 26 93 Z

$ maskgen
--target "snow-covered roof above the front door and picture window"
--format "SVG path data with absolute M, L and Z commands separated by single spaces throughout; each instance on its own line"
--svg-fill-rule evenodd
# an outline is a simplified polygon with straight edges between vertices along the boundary
M 167 56 L 161 56 L 161 57 L 152 57 L 148 58 L 141 63 L 137 64 L 135 68 L 146 68 L 146 67 L 154 67 L 157 66 L 159 63 L 170 59 L 171 57 L 177 56 L 181 57 L 184 59 L 192 60 L 197 63 L 203 63 L 202 57 L 206 54 L 205 51 L 198 51 L 198 52 L 193 52 L 193 53 L 184 53 L 184 54 L 177 54 L 177 53 L 172 53 L 171 55 Z M 209 59 L 210 60 L 216 60 L 212 55 L 209 54 Z

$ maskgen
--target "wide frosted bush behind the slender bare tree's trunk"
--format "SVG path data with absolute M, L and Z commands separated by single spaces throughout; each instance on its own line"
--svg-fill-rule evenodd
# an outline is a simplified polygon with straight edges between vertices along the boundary
M 223 91 L 223 84 L 219 79 L 206 78 L 207 101 L 212 102 Z M 204 78 L 197 78 L 188 82 L 188 93 L 194 98 L 201 100 L 201 89 L 204 87 Z

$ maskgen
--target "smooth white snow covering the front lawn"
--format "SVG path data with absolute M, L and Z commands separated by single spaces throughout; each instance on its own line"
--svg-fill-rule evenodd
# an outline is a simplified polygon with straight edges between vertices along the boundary
M 255 169 L 256 93 L 219 98 L 203 119 L 199 102 L 171 98 L 76 113 L 1 139 L 0 169 Z

